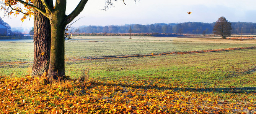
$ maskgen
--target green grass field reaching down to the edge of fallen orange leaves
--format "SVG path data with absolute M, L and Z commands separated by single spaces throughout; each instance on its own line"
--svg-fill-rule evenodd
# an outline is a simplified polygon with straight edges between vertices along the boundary
M 171 85 L 171 89 L 176 92 L 210 94 L 220 101 L 227 101 L 228 105 L 241 106 L 244 103 L 246 108 L 251 106 L 253 110 L 249 108 L 246 110 L 244 107 L 243 110 L 232 111 L 255 113 L 256 49 L 121 59 L 77 59 L 250 47 L 256 46 L 256 40 L 168 37 L 135 37 L 129 40 L 128 38 L 83 37 L 67 41 L 65 74 L 77 78 L 86 70 L 90 78 L 103 84 L 114 81 L 130 85 L 138 85 L 140 82 L 145 83 L 146 86 L 147 84 Z M 0 76 L 9 77 L 11 73 L 15 73 L 15 77 L 23 77 L 31 73 L 33 41 L 0 41 L 0 53 Z M 225 103 L 222 105 L 225 106 Z M 228 109 L 230 111 L 230 107 Z

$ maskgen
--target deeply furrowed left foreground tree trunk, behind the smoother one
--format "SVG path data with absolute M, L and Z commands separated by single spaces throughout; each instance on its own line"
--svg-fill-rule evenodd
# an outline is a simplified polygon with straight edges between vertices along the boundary
M 48 1 L 48 0 L 46 0 Z M 34 5 L 44 9 L 41 0 L 34 0 Z M 45 10 L 45 9 L 44 9 Z M 34 64 L 32 77 L 40 77 L 49 68 L 51 26 L 47 17 L 34 10 Z

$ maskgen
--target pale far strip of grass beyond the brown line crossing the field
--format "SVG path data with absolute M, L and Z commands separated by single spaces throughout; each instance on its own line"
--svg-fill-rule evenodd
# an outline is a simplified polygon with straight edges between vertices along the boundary
M 240 41 L 242 44 L 236 43 L 237 40 L 225 40 L 225 42 L 223 43 L 219 38 L 135 37 L 130 40 L 128 37 L 85 37 L 65 43 L 65 58 L 67 60 L 256 46 L 255 40 Z M 31 62 L 33 61 L 33 40 L 0 41 L 0 53 L 0 63 Z

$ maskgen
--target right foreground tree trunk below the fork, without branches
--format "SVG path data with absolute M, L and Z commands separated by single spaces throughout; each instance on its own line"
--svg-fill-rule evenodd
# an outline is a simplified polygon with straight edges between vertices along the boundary
M 62 16 L 53 16 L 51 19 L 51 54 L 47 75 L 50 79 L 62 79 L 65 76 L 64 32 L 66 25 L 63 20 Z

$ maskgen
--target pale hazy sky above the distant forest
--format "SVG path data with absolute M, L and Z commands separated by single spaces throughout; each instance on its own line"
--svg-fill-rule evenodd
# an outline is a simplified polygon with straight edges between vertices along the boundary
M 256 0 L 119 0 L 115 7 L 104 8 L 105 0 L 89 0 L 73 24 L 81 25 L 124 25 L 179 22 L 215 22 L 221 16 L 230 22 L 256 22 Z M 67 0 L 67 14 L 80 0 Z M 187 12 L 191 11 L 189 15 Z M 0 12 L 3 17 L 3 11 Z M 24 22 L 20 17 L 3 18 L 11 27 L 33 27 L 33 19 Z

